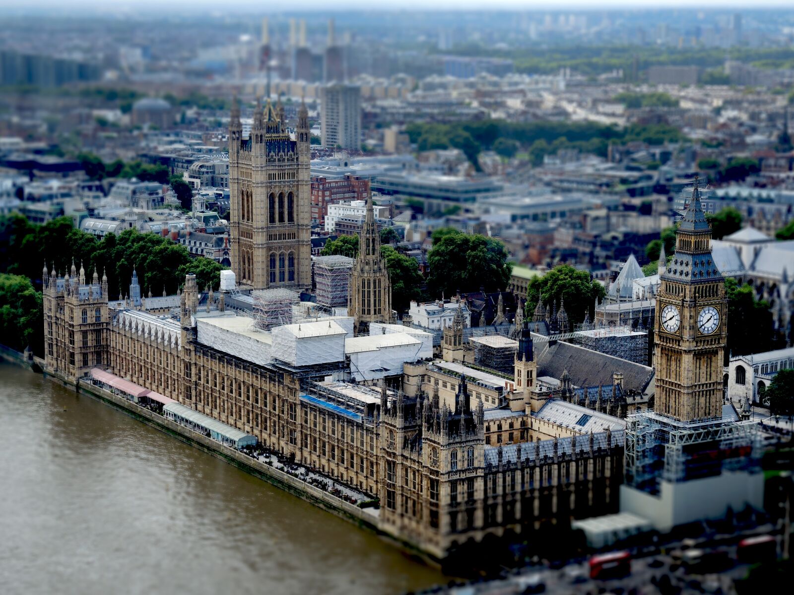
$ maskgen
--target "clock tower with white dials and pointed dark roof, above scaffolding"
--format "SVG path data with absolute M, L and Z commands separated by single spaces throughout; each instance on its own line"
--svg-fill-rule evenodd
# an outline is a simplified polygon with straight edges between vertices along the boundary
M 711 256 L 711 226 L 697 178 L 656 303 L 656 412 L 680 421 L 721 417 L 725 280 Z

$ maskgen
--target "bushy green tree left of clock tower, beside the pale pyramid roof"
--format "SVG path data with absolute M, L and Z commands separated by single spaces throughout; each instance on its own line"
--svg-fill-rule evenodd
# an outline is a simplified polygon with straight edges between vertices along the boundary
M 524 312 L 532 312 L 542 298 L 547 309 L 554 302 L 558 309 L 565 305 L 571 324 L 579 324 L 584 321 L 586 312 L 590 313 L 590 320 L 593 320 L 595 312 L 591 312 L 592 306 L 596 299 L 603 299 L 606 294 L 603 285 L 591 279 L 588 271 L 579 271 L 569 264 L 561 264 L 542 277 L 530 280 Z

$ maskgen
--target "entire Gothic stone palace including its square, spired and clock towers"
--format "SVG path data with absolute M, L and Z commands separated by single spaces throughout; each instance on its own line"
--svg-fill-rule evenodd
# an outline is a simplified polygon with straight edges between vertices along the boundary
M 619 365 L 611 386 L 573 386 L 569 370 L 559 385 L 543 382 L 538 336 L 518 320 L 514 374 L 486 374 L 458 357 L 460 305 L 434 358 L 422 332 L 395 324 L 371 201 L 347 316 L 296 314 L 265 329 L 230 307 L 249 290 L 310 289 L 308 182 L 305 106 L 289 132 L 283 109 L 258 105 L 247 138 L 233 108 L 236 288 L 202 291 L 188 274 L 177 296 L 141 298 L 133 278 L 129 298 L 110 301 L 98 271 L 89 278 L 76 265 L 64 275 L 45 266 L 45 372 L 75 382 L 106 370 L 255 436 L 377 497 L 380 529 L 438 559 L 489 535 L 568 528 L 618 512 L 627 433 L 637 425 L 619 405 Z M 685 215 L 656 309 L 653 415 L 670 424 L 718 423 L 723 278 L 696 196 Z

